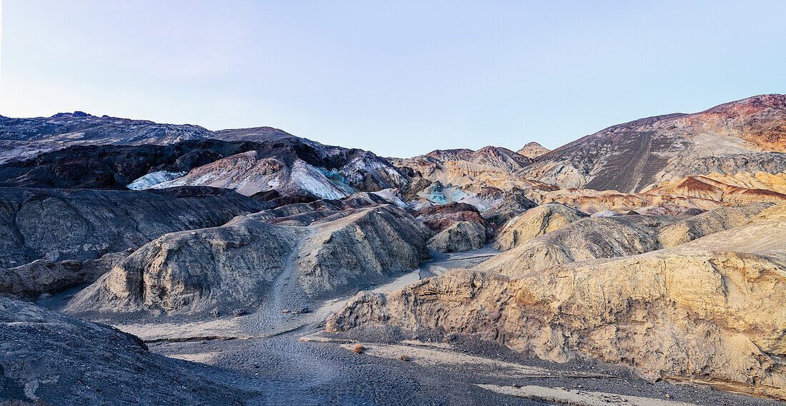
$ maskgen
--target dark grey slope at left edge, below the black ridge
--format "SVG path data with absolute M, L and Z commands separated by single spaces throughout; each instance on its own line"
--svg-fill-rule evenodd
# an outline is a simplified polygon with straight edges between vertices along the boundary
M 178 199 L 108 190 L 0 188 L 0 269 L 36 259 L 84 261 L 167 232 L 222 225 L 266 203 L 226 191 Z

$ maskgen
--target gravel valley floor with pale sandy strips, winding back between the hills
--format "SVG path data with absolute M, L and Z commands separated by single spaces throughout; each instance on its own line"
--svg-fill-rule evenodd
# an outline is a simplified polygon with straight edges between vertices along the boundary
M 385 292 L 468 267 L 498 251 L 484 248 L 439 254 L 421 269 L 379 287 Z M 277 281 L 266 305 L 240 317 L 188 323 L 128 323 L 105 320 L 148 342 L 152 353 L 192 361 L 204 379 L 256 393 L 249 405 L 316 404 L 629 404 L 645 406 L 776 405 L 705 387 L 648 382 L 630 371 L 579 362 L 553 364 L 524 359 L 507 349 L 461 338 L 422 337 L 396 342 L 355 342 L 324 331 L 325 319 L 349 298 L 325 303 L 299 302 L 283 294 L 287 276 Z M 39 303 L 57 308 L 57 298 Z M 309 305 L 310 313 L 296 314 Z M 406 355 L 406 361 L 400 357 Z M 556 388 L 556 389 L 555 389 Z

